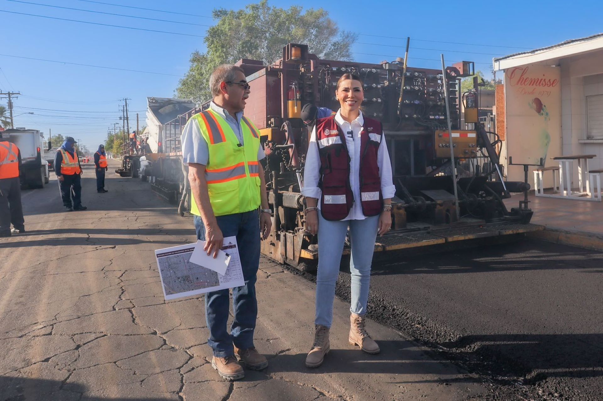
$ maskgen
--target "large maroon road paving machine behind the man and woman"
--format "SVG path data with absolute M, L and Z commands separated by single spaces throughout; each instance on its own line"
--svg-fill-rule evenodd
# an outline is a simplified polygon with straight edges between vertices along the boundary
M 362 113 L 382 122 L 396 185 L 392 229 L 377 237 L 376 256 L 541 229 L 529 224 L 527 176 L 523 182 L 505 181 L 499 138 L 479 123 L 475 92 L 460 93 L 461 78 L 474 75 L 472 62 L 437 70 L 410 67 L 402 59 L 380 64 L 321 60 L 308 46 L 289 43 L 269 66 L 247 59 L 236 65 L 251 87 L 245 116 L 259 128 L 267 155 L 264 189 L 273 229 L 262 241 L 262 253 L 273 260 L 301 270 L 316 267 L 318 242 L 304 229 L 306 202 L 300 191 L 312 124 L 301 119 L 301 109 L 312 104 L 338 110 L 336 82 L 344 73 L 362 78 Z M 464 121 L 473 121 L 470 129 L 461 126 L 461 102 Z M 190 197 L 180 134 L 188 119 L 207 107 L 209 102 L 162 125 L 163 143 L 151 169 L 153 190 L 178 203 L 181 216 Z M 520 192 L 524 200 L 508 210 L 503 200 Z

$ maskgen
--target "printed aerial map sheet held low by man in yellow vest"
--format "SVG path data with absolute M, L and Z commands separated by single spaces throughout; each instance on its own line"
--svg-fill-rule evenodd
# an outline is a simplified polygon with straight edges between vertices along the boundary
M 222 250 L 230 255 L 224 275 L 191 263 L 191 255 L 196 245 L 196 243 L 185 244 L 155 251 L 163 296 L 166 300 L 245 285 L 236 237 L 224 238 Z

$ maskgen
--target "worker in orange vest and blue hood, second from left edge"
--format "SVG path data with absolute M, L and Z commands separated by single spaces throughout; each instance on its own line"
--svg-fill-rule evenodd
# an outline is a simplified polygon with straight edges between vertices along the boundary
M 57 173 L 65 211 L 87 209 L 81 205 L 81 165 L 75 150 L 76 143 L 74 138 L 66 137 L 54 155 L 54 171 Z

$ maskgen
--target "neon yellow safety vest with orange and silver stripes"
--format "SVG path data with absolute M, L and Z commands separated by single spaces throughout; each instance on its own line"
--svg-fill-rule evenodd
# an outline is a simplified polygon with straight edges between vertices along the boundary
M 214 111 L 195 114 L 188 124 L 198 124 L 209 148 L 205 170 L 209 201 L 215 216 L 244 213 L 260 205 L 260 135 L 246 117 L 241 119 L 243 146 L 230 125 Z M 191 213 L 201 216 L 191 193 Z

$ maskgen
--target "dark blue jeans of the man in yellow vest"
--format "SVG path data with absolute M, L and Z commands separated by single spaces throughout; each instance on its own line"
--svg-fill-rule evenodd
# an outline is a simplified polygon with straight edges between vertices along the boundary
M 236 237 L 245 280 L 245 285 L 232 289 L 235 319 L 230 326 L 230 334 L 226 328 L 230 309 L 229 290 L 205 294 L 205 318 L 209 329 L 207 344 L 212 347 L 214 356 L 226 358 L 235 353 L 233 343 L 240 349 L 253 347 L 257 317 L 256 274 L 260 263 L 260 224 L 257 210 L 217 216 L 216 220 L 225 238 Z M 199 216 L 195 216 L 195 230 L 197 238 L 205 240 L 205 226 Z

